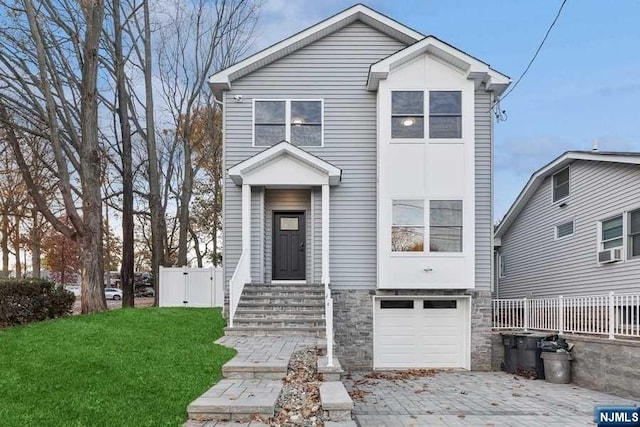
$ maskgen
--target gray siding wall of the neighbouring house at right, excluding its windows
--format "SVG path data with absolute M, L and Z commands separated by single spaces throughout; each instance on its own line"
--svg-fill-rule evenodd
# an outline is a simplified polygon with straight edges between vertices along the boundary
M 506 277 L 500 298 L 593 295 L 640 290 L 640 259 L 597 262 L 597 223 L 640 207 L 640 166 L 574 161 L 567 206 L 551 202 L 548 177 L 502 237 Z M 574 235 L 555 240 L 555 226 L 575 219 Z

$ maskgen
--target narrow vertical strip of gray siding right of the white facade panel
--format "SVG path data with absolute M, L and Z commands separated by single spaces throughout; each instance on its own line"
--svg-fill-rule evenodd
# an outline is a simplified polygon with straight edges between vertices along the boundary
M 475 208 L 477 290 L 490 290 L 492 278 L 493 236 L 493 128 L 491 93 L 475 93 Z

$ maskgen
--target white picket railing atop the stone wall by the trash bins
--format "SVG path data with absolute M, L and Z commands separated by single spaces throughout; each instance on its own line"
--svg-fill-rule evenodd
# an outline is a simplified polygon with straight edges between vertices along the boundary
M 492 301 L 494 329 L 640 337 L 640 293 Z

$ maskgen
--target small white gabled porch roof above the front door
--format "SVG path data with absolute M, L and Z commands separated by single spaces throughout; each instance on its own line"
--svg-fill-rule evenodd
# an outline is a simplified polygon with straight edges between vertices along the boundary
M 338 185 L 342 170 L 287 141 L 229 169 L 236 185 Z

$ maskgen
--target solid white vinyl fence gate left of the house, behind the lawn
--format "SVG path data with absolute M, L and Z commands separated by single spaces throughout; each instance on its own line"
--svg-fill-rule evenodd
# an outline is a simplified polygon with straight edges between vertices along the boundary
M 222 268 L 160 267 L 160 307 L 222 307 Z

